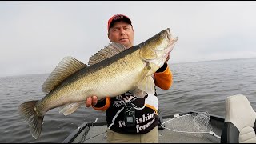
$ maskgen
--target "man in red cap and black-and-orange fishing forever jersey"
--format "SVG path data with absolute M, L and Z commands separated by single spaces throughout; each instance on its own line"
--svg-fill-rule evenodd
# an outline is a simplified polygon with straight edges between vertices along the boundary
M 115 14 L 109 19 L 107 29 L 110 42 L 120 43 L 126 48 L 134 46 L 134 28 L 126 15 Z M 172 84 L 172 73 L 167 65 L 169 53 L 163 66 L 152 75 L 155 86 L 164 90 Z M 86 106 L 106 110 L 107 142 L 158 142 L 158 98 L 154 94 L 138 98 L 128 91 L 100 100 L 94 95 L 86 99 Z M 126 120 L 126 110 L 130 112 L 128 106 L 133 110 L 130 115 L 128 113 L 130 121 Z

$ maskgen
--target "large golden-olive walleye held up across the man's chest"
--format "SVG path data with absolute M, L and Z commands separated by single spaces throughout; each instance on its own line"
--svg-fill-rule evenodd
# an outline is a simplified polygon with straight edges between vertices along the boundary
M 42 86 L 48 94 L 41 100 L 22 103 L 19 114 L 37 139 L 44 115 L 56 107 L 62 107 L 60 112 L 68 115 L 93 95 L 100 99 L 127 91 L 138 97 L 154 94 L 152 74 L 163 66 L 177 40 L 167 28 L 130 49 L 111 43 L 89 59 L 89 66 L 72 57 L 63 58 Z

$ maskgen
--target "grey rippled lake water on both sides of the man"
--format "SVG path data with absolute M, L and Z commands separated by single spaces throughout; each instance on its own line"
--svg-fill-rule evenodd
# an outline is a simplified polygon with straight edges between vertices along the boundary
M 162 114 L 190 110 L 224 117 L 225 98 L 244 94 L 256 110 L 256 58 L 169 64 L 173 72 L 170 90 L 158 89 Z M 18 114 L 22 102 L 43 98 L 42 83 L 49 74 L 0 78 L 0 142 L 62 142 L 83 122 L 105 122 L 105 112 L 86 106 L 64 116 L 58 108 L 44 117 L 42 134 L 35 140 L 27 122 Z

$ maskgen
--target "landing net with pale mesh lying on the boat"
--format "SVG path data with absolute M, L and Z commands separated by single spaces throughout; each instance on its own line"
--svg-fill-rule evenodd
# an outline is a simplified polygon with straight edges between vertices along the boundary
M 217 138 L 210 126 L 210 114 L 207 112 L 174 115 L 174 118 L 163 122 L 162 127 L 180 133 L 209 133 Z

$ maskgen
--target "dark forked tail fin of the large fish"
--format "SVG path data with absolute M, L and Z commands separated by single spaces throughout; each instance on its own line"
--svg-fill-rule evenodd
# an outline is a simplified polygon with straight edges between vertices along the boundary
M 28 101 L 18 106 L 18 113 L 30 126 L 30 133 L 37 139 L 42 131 L 43 115 L 37 110 L 35 104 L 38 101 Z

